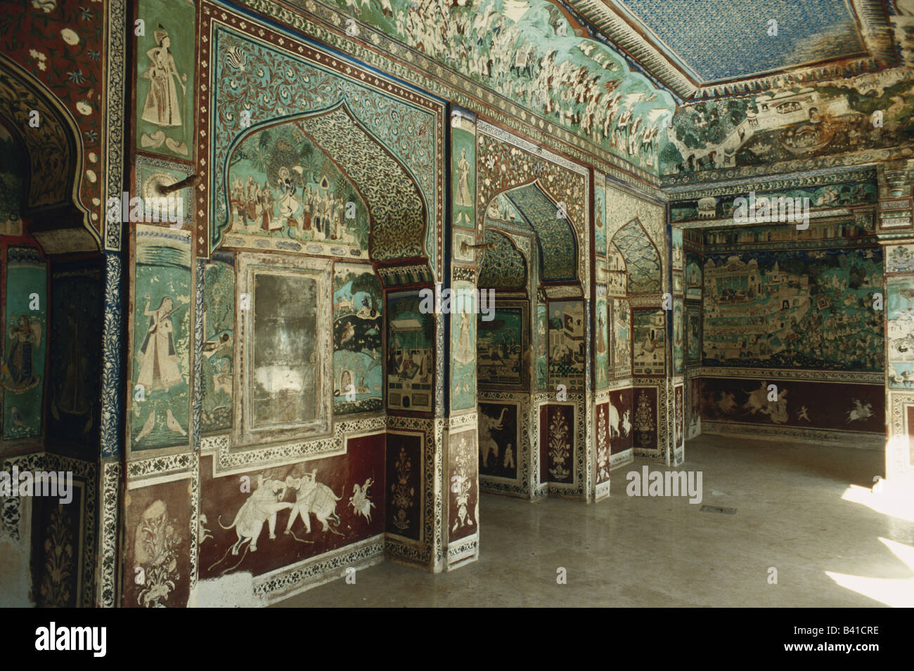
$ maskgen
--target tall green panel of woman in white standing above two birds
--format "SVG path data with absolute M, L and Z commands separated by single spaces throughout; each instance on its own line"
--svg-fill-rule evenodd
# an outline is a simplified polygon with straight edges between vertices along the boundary
M 186 445 L 190 417 L 190 235 L 137 225 L 133 278 L 133 450 Z

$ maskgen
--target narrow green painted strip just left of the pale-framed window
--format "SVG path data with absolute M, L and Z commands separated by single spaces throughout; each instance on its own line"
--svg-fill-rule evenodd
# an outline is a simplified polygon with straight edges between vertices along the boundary
M 202 414 L 204 434 L 230 429 L 235 365 L 235 257 L 216 252 L 203 267 Z

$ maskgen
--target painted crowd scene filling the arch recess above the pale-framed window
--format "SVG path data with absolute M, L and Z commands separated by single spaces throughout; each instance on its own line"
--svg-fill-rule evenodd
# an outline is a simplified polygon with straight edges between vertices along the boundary
M 294 121 L 251 132 L 228 165 L 229 233 L 368 256 L 368 210 L 356 186 Z M 333 250 L 333 251 L 331 251 Z

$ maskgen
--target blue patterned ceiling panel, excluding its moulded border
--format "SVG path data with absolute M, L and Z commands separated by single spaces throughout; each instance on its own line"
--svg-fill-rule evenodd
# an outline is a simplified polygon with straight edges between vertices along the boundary
M 848 0 L 613 0 L 703 83 L 864 53 Z M 777 35 L 769 35 L 770 21 Z

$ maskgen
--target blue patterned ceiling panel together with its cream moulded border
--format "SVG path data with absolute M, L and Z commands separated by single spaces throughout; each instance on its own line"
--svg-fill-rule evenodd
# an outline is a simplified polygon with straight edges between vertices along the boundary
M 898 65 L 882 0 L 568 0 L 681 101 Z M 909 0 L 904 0 L 909 2 Z

